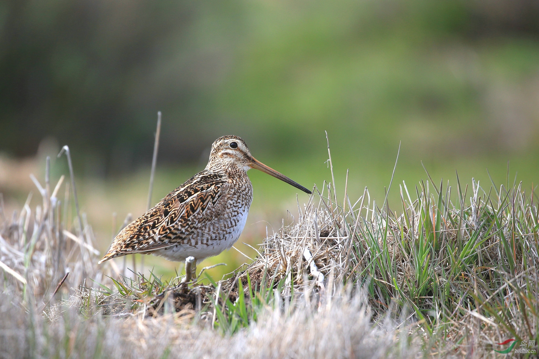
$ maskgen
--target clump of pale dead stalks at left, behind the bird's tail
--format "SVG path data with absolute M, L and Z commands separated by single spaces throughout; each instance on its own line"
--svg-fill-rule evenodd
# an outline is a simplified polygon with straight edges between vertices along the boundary
M 31 295 L 43 310 L 55 302 L 59 291 L 80 289 L 88 278 L 100 280 L 102 272 L 96 266 L 99 252 L 93 246 L 92 227 L 78 211 L 73 186 L 64 183 L 65 176 L 56 184 L 50 182 L 49 158 L 44 183 L 33 175 L 31 178 L 42 203 L 32 209 L 31 192 L 20 212 L 0 216 L 0 265 L 4 273 L 0 281 L 23 300 Z M 77 203 L 74 216 L 72 202 Z

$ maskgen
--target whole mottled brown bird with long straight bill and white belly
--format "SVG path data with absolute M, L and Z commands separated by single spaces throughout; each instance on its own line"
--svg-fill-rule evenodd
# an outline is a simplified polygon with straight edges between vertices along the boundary
M 213 142 L 206 168 L 127 225 L 99 263 L 126 254 L 156 254 L 180 261 L 216 256 L 230 248 L 245 226 L 253 199 L 247 170 L 257 168 L 310 194 L 255 160 L 240 137 Z

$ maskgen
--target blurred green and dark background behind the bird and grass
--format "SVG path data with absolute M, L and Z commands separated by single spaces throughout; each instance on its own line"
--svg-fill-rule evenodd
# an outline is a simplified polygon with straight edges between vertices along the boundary
M 486 169 L 506 183 L 509 162 L 509 182 L 516 175 L 531 189 L 539 2 L 0 2 L 8 206 L 20 207 L 31 189 L 27 172 L 43 174 L 44 156 L 68 144 L 81 207 L 105 251 L 112 213 L 118 226 L 146 209 L 157 111 L 154 202 L 204 168 L 225 134 L 306 187 L 321 185 L 331 180 L 324 130 L 337 192 L 350 169 L 353 202 L 365 186 L 383 202 L 399 142 L 397 184 L 425 179 L 423 161 L 434 181 L 454 185 L 456 170 L 463 184 L 475 177 L 488 191 Z M 58 178 L 65 160 L 53 162 Z M 266 225 L 277 230 L 297 213 L 294 188 L 251 172 L 255 197 L 237 245 L 248 256 L 241 241 L 260 243 Z M 393 188 L 391 201 L 397 195 Z M 176 265 L 147 258 L 162 272 Z M 214 274 L 247 259 L 231 250 L 205 264 L 218 261 L 229 266 Z

